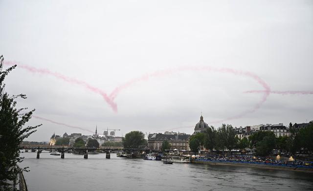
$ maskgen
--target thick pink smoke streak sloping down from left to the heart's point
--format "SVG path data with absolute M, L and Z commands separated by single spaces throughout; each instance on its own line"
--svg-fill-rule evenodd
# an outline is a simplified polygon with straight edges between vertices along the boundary
M 8 65 L 13 65 L 12 62 L 4 62 L 4 64 L 8 64 Z M 32 73 L 39 73 L 39 74 L 48 74 L 48 75 L 51 75 L 51 76 L 54 76 L 58 79 L 61 79 L 65 82 L 68 82 L 68 83 L 71 83 L 71 84 L 77 84 L 77 85 L 81 85 L 83 87 L 85 87 L 86 89 L 94 92 L 94 93 L 97 93 L 97 94 L 100 94 L 104 100 L 112 107 L 113 111 L 114 112 L 117 112 L 117 105 L 113 102 L 112 99 L 109 98 L 109 96 L 101 89 L 97 88 L 97 87 L 94 87 L 92 85 L 89 85 L 88 83 L 84 82 L 84 81 L 80 81 L 80 80 L 77 80 L 75 78 L 69 78 L 63 74 L 60 74 L 60 73 L 57 73 L 57 72 L 52 72 L 48 69 L 38 69 L 38 68 L 35 68 L 35 67 L 32 67 L 32 66 L 28 66 L 28 65 L 23 65 L 23 64 L 18 64 L 18 67 L 21 67 L 23 69 L 26 69 L 28 70 L 29 72 L 32 72 Z

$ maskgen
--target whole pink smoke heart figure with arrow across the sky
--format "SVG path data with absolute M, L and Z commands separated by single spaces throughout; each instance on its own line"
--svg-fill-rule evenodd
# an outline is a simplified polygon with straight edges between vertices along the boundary
M 13 65 L 14 63 L 13 62 L 4 62 L 4 64 Z M 141 82 L 141 81 L 148 81 L 151 78 L 169 76 L 169 75 L 173 75 L 174 73 L 179 73 L 179 72 L 183 72 L 183 71 L 196 71 L 196 72 L 207 71 L 207 72 L 218 72 L 218 73 L 226 73 L 226 74 L 237 75 L 237 76 L 244 76 L 244 77 L 247 77 L 247 78 L 250 78 L 250 79 L 256 81 L 259 85 L 261 85 L 264 88 L 264 90 L 251 90 L 251 91 L 245 92 L 245 93 L 263 93 L 262 99 L 256 105 L 254 105 L 251 109 L 243 111 L 243 112 L 241 112 L 237 115 L 234 115 L 232 117 L 228 117 L 228 118 L 225 118 L 225 119 L 219 120 L 219 121 L 211 121 L 209 123 L 221 123 L 221 122 L 231 120 L 231 119 L 238 119 L 238 118 L 245 116 L 248 113 L 254 112 L 257 109 L 259 109 L 264 102 L 266 102 L 268 95 L 270 93 L 282 94 L 282 95 L 286 95 L 286 94 L 313 94 L 313 91 L 271 91 L 269 85 L 265 81 L 263 81 L 256 74 L 254 74 L 252 72 L 248 72 L 248 71 L 235 70 L 232 68 L 216 68 L 216 67 L 211 67 L 211 66 L 183 66 L 183 67 L 178 67 L 178 68 L 158 70 L 158 71 L 155 71 L 152 73 L 145 74 L 141 77 L 131 79 L 131 80 L 127 81 L 126 83 L 117 86 L 111 92 L 111 94 L 108 95 L 105 91 L 103 91 L 97 87 L 94 87 L 92 85 L 89 85 L 87 82 L 77 80 L 75 78 L 67 77 L 67 76 L 60 74 L 58 72 L 52 72 L 48 69 L 36 68 L 33 66 L 24 65 L 24 64 L 18 64 L 18 67 L 23 68 L 23 69 L 25 69 L 29 72 L 32 72 L 32 73 L 51 75 L 51 76 L 54 76 L 60 80 L 65 81 L 65 82 L 68 82 L 71 84 L 76 84 L 76 85 L 81 85 L 84 88 L 88 89 L 89 91 L 100 94 L 104 98 L 104 100 L 108 103 L 108 105 L 111 106 L 111 108 L 114 112 L 117 112 L 117 105 L 116 105 L 116 103 L 114 103 L 114 99 L 122 90 L 129 88 L 130 86 L 132 86 L 138 82 Z M 40 118 L 40 117 L 36 117 L 36 118 Z M 41 118 L 41 119 L 58 124 L 58 122 L 53 122 L 52 120 L 48 120 L 45 118 Z M 59 124 L 61 124 L 61 123 L 59 123 Z M 66 125 L 66 124 L 62 124 L 62 125 L 65 125 L 67 127 L 71 127 L 71 126 Z M 72 126 L 72 127 L 74 127 L 74 126 Z

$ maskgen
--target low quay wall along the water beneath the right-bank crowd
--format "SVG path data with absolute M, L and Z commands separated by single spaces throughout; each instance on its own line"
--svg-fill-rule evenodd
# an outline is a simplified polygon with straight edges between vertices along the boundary
M 269 164 L 255 164 L 255 163 L 243 163 L 243 162 L 228 162 L 228 161 L 210 161 L 203 159 L 193 159 L 191 163 L 194 164 L 205 164 L 205 165 L 226 165 L 226 166 L 237 166 L 237 167 L 251 167 L 257 169 L 268 169 L 268 170 L 288 170 L 297 172 L 308 172 L 313 173 L 313 168 L 306 167 L 295 167 L 295 166 L 282 166 L 282 165 L 269 165 Z

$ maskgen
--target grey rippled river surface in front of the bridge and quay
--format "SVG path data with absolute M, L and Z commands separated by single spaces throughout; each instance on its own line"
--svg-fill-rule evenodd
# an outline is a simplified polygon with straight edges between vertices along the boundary
M 249 167 L 163 164 L 111 154 L 65 153 L 65 159 L 24 152 L 21 167 L 29 191 L 305 191 L 313 190 L 313 174 Z

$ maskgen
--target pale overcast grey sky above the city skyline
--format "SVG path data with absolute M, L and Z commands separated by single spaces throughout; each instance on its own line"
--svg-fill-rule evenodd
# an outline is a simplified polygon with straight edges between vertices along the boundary
M 312 0 L 0 0 L 0 24 L 27 140 L 313 120 Z

